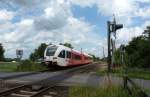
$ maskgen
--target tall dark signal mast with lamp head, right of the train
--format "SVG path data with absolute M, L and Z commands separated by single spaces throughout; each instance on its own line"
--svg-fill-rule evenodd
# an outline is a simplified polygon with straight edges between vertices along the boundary
M 108 41 L 108 73 L 111 72 L 111 64 L 112 64 L 112 55 L 113 55 L 113 51 L 114 51 L 114 45 L 115 42 L 113 42 L 111 34 L 114 35 L 114 37 L 116 38 L 116 31 L 123 28 L 123 24 L 117 24 L 116 23 L 116 19 L 114 17 L 113 21 L 107 21 L 107 30 L 108 30 L 108 37 L 107 37 L 107 41 Z

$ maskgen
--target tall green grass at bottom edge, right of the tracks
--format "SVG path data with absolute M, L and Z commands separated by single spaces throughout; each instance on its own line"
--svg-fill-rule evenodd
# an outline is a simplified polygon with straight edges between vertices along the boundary
M 69 97 L 136 97 L 129 95 L 121 86 L 83 87 L 72 86 L 69 89 Z

